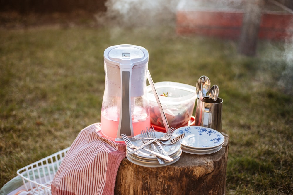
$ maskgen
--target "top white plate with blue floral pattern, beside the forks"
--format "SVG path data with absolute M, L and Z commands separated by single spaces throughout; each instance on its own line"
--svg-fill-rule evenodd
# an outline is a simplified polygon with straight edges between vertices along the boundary
M 185 126 L 175 130 L 173 136 L 185 133 L 181 139 L 182 146 L 191 149 L 208 149 L 221 146 L 224 143 L 224 136 L 211 128 L 201 126 Z

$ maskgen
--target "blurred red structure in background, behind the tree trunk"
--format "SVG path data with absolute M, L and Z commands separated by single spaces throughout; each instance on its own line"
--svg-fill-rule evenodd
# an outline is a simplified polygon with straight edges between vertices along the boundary
M 271 8 L 271 7 L 270 7 Z M 263 10 L 258 37 L 284 39 L 293 35 L 293 11 Z M 178 9 L 176 30 L 178 34 L 199 34 L 238 39 L 241 34 L 243 9 L 195 8 Z

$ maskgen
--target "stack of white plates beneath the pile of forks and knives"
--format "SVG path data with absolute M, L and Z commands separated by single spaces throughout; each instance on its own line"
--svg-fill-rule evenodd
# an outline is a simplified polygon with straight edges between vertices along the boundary
M 155 132 L 155 133 L 156 133 L 156 137 L 162 137 L 165 135 L 165 133 L 161 133 L 161 132 Z M 141 136 L 141 134 L 139 134 L 134 137 L 142 137 L 142 136 Z M 174 136 L 172 136 L 172 138 L 174 138 Z M 144 144 L 144 142 L 141 140 L 131 141 L 131 142 L 135 146 L 140 146 L 140 145 Z M 154 143 L 154 145 L 156 146 L 157 150 L 160 153 L 160 149 L 159 149 L 158 145 L 156 143 Z M 164 145 L 162 143 L 161 143 L 161 145 L 162 145 L 163 149 L 168 153 L 169 157 L 173 158 L 174 161 L 160 164 L 154 154 L 151 154 L 150 152 L 148 152 L 144 149 L 141 149 L 133 154 L 129 154 L 128 152 L 132 151 L 132 149 L 129 147 L 126 147 L 126 157 L 130 162 L 137 164 L 137 165 L 140 165 L 140 166 L 144 166 L 144 167 L 162 167 L 162 166 L 166 166 L 166 165 L 171 165 L 172 163 L 175 163 L 176 161 L 179 160 L 181 153 L 182 153 L 180 141 L 177 141 L 176 143 L 174 143 L 172 145 Z M 153 151 L 155 150 L 154 146 L 152 144 L 145 146 L 145 148 L 147 148 L 149 150 L 153 150 Z

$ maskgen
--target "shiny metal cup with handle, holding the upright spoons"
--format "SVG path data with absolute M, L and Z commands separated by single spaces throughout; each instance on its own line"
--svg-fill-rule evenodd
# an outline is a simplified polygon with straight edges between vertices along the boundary
M 215 103 L 200 101 L 197 98 L 195 110 L 195 125 L 209 127 L 222 131 L 222 104 L 223 99 L 218 98 Z

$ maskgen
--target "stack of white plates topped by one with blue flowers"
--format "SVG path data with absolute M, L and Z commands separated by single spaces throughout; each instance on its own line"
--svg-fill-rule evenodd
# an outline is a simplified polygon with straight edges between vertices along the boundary
M 224 144 L 224 136 L 211 128 L 186 126 L 175 130 L 173 136 L 185 133 L 181 139 L 182 151 L 190 154 L 212 154 L 219 151 Z

